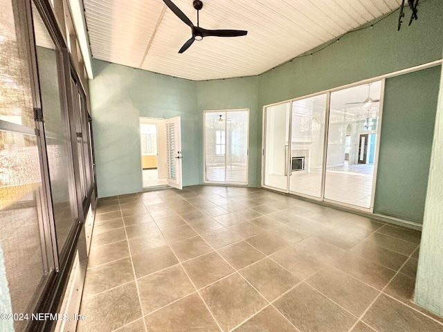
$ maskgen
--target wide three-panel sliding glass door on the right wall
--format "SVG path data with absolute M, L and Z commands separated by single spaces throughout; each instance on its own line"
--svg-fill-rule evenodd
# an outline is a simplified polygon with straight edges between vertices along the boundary
M 370 209 L 382 83 L 265 107 L 263 186 Z

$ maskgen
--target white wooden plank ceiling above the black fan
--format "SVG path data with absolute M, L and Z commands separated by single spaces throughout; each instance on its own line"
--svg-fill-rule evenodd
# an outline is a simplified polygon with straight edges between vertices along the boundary
M 192 0 L 172 1 L 197 25 Z M 202 28 L 248 35 L 205 37 L 179 54 L 191 30 L 162 0 L 84 0 L 93 58 L 189 80 L 257 75 L 395 10 L 401 1 L 203 2 Z

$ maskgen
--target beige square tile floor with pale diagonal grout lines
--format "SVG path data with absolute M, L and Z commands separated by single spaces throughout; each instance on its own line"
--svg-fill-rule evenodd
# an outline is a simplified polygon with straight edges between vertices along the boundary
M 443 331 L 413 295 L 420 232 L 266 190 L 99 200 L 83 331 Z

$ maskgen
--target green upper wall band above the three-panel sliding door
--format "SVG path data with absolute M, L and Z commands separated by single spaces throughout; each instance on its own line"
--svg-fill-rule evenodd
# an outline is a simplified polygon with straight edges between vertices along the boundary
M 406 19 L 400 31 L 397 10 L 373 28 L 267 71 L 260 75 L 260 107 L 441 59 L 442 17 L 441 0 L 420 2 L 419 19 L 411 26 Z

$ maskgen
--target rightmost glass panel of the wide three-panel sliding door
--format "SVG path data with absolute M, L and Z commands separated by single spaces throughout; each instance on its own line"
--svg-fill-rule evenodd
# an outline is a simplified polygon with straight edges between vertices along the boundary
M 331 93 L 325 199 L 370 208 L 381 81 Z

